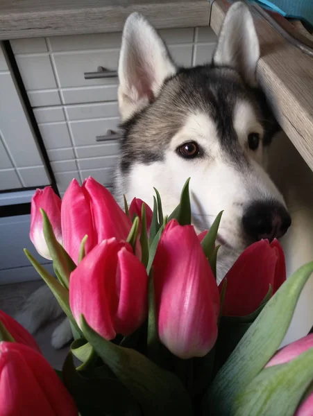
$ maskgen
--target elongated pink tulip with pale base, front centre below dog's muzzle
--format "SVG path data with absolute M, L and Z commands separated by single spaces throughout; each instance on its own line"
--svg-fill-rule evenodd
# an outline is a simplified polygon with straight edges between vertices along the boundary
M 153 262 L 158 331 L 176 356 L 204 356 L 217 340 L 219 290 L 192 225 L 167 224 Z

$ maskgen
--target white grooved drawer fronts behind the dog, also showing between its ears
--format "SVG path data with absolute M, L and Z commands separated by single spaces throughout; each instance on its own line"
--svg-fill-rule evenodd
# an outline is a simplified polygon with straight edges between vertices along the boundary
M 216 36 L 210 28 L 160 31 L 174 60 L 189 67 L 210 62 Z M 97 67 L 116 70 L 121 33 L 12 40 L 12 49 L 48 150 L 60 192 L 76 177 L 112 184 L 118 140 L 96 136 L 117 130 L 117 78 L 85 80 Z

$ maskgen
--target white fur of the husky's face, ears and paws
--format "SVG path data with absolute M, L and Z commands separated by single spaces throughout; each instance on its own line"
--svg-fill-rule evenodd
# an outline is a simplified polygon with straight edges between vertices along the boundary
M 251 85 L 255 85 L 255 70 L 260 57 L 260 48 L 248 9 L 242 3 L 235 3 L 228 12 L 219 37 L 214 62 L 228 64 L 239 68 L 242 76 Z M 148 105 L 153 96 L 157 96 L 164 79 L 175 73 L 176 67 L 167 53 L 167 49 L 156 31 L 140 15 L 133 14 L 126 21 L 124 28 L 121 55 L 119 60 L 119 110 L 121 119 L 127 120 L 138 110 Z M 249 132 L 258 132 L 262 136 L 262 125 L 252 107 L 238 101 L 234 115 L 234 127 L 246 146 Z M 182 162 L 174 153 L 185 139 L 201 142 L 208 149 L 212 161 L 202 160 L 194 163 Z M 142 198 L 151 204 L 153 186 L 162 196 L 164 211 L 170 213 L 178 204 L 180 190 L 187 177 L 191 176 L 192 215 L 198 229 L 208 228 L 219 211 L 224 210 L 221 222 L 221 239 L 229 247 L 223 248 L 219 257 L 221 263 L 219 279 L 231 266 L 238 254 L 245 248 L 239 228 L 242 217 L 242 206 L 255 196 L 272 196 L 283 202 L 278 189 L 264 171 L 264 152 L 262 148 L 249 155 L 253 165 L 252 174 L 248 177 L 239 175 L 230 166 L 223 163 L 223 155 L 217 140 L 214 123 L 207 114 L 195 112 L 190 114 L 185 125 L 171 139 L 171 150 L 166 160 L 146 166 L 135 164 L 128 181 L 127 198 Z M 248 149 L 247 149 L 248 153 Z M 210 195 L 203 189 L 210 181 Z M 122 175 L 117 175 L 117 187 L 124 187 Z M 60 315 L 60 309 L 53 299 L 49 288 L 43 286 L 28 300 L 24 309 L 17 316 L 31 332 L 34 332 L 47 319 Z M 68 320 L 54 331 L 53 347 L 62 347 L 71 339 Z

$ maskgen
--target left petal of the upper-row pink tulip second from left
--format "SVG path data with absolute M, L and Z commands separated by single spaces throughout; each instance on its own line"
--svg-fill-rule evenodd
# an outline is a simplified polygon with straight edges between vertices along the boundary
M 96 244 L 90 203 L 84 187 L 80 187 L 76 179 L 72 180 L 62 199 L 61 219 L 64 248 L 76 264 L 85 235 L 88 236 L 86 253 Z

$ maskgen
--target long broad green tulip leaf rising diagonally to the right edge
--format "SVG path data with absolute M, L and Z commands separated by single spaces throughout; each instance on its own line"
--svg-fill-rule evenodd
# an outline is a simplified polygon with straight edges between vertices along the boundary
M 264 306 L 215 377 L 203 401 L 205 412 L 234 415 L 233 406 L 238 395 L 282 343 L 298 297 L 312 272 L 313 261 L 294 272 Z

